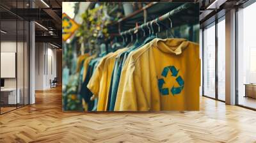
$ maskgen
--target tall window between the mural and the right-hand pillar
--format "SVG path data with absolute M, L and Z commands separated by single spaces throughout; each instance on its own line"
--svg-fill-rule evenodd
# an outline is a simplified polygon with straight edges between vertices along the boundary
M 219 27 L 220 29 L 218 29 Z M 208 31 L 209 29 L 210 29 L 210 34 Z M 220 17 L 219 19 L 216 19 L 214 22 L 212 22 L 208 26 L 205 26 L 202 29 L 202 86 L 203 86 L 202 96 L 205 96 L 207 98 L 211 98 L 214 100 L 218 100 L 220 102 L 225 102 L 225 42 L 223 42 L 225 41 L 225 32 L 223 34 L 223 31 L 225 31 L 225 15 L 223 15 L 223 17 Z M 209 44 L 207 45 L 207 42 L 209 41 L 205 40 L 206 39 L 205 36 L 206 38 L 207 36 L 208 38 L 211 37 L 210 38 L 211 51 L 208 50 L 209 47 L 208 49 L 205 48 L 209 46 Z M 207 52 L 210 52 L 211 55 L 209 55 L 209 53 Z M 210 68 L 209 68 L 209 57 L 211 57 Z M 209 74 L 210 74 L 210 73 L 205 73 L 206 72 L 205 70 L 207 69 L 211 70 L 210 72 L 211 82 L 207 81 L 209 79 Z M 220 73 L 220 70 L 222 70 L 221 73 Z M 207 91 L 207 89 L 205 90 L 207 86 L 208 88 L 211 89 L 211 92 Z

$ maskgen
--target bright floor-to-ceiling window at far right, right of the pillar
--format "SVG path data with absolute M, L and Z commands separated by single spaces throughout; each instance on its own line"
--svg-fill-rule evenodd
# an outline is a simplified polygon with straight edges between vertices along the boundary
M 256 3 L 237 11 L 237 103 L 256 109 Z

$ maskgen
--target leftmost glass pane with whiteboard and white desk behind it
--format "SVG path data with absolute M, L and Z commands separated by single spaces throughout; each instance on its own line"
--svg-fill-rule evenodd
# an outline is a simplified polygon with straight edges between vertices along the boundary
M 20 103 L 16 67 L 17 21 L 2 20 L 1 31 L 1 113 L 4 113 L 16 109 Z

